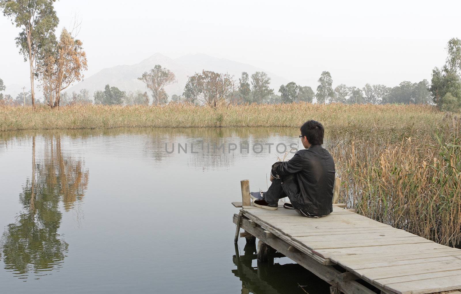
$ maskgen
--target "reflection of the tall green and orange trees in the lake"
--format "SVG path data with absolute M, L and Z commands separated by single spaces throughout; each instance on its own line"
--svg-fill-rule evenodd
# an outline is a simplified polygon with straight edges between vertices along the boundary
M 82 159 L 66 156 L 60 135 L 44 138 L 43 156 L 36 158 L 32 136 L 32 173 L 19 194 L 23 211 L 3 235 L 1 252 L 5 269 L 20 279 L 35 279 L 62 267 L 69 244 L 59 235 L 62 213 L 81 201 L 88 187 L 89 171 Z

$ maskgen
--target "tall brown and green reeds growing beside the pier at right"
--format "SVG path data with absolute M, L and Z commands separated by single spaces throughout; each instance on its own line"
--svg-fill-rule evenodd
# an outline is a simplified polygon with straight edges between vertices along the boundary
M 459 118 L 437 127 L 336 129 L 340 197 L 366 217 L 452 247 L 461 245 Z

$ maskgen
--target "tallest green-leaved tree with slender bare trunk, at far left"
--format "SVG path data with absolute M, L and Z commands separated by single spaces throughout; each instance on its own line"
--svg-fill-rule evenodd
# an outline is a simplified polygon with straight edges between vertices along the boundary
M 3 14 L 20 28 L 16 46 L 23 54 L 24 61 L 29 60 L 31 103 L 35 109 L 34 78 L 37 56 L 42 47 L 54 37 L 59 19 L 54 11 L 55 0 L 0 0 Z

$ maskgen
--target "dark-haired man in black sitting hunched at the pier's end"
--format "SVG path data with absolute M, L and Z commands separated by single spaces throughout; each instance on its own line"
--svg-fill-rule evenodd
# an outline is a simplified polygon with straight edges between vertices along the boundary
M 272 165 L 271 186 L 266 192 L 251 192 L 255 206 L 275 210 L 278 200 L 290 199 L 285 208 L 295 209 L 301 216 L 319 218 L 333 211 L 335 163 L 322 147 L 325 129 L 310 120 L 301 126 L 302 145 L 292 159 Z

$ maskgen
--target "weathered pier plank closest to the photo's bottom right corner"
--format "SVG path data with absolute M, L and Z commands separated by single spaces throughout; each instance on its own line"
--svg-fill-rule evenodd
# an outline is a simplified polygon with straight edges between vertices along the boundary
M 461 275 L 388 284 L 384 288 L 399 294 L 426 294 L 461 289 Z

